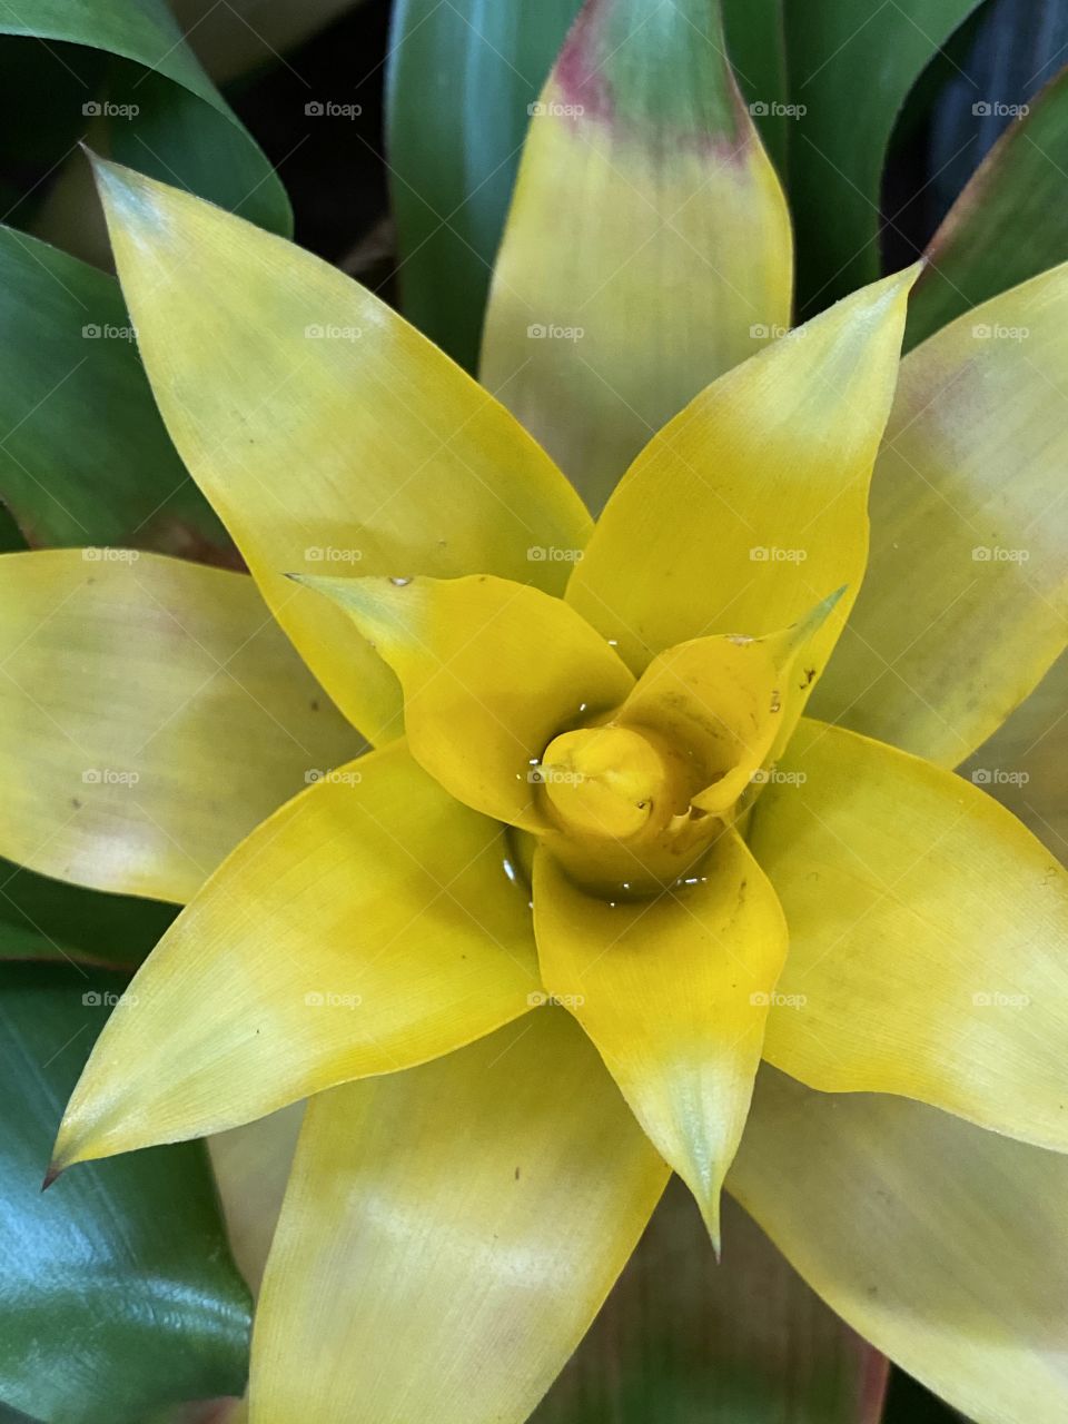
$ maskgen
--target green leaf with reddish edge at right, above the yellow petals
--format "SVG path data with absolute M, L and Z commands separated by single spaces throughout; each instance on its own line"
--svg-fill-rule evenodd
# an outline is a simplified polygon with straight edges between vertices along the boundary
M 927 255 L 906 346 L 1068 259 L 1068 68 L 987 154 Z

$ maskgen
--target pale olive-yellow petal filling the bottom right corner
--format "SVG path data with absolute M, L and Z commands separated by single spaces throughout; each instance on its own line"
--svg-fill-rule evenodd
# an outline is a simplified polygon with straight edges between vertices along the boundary
M 977 1424 L 1068 1417 L 1068 1158 L 762 1069 L 728 1178 L 844 1320 Z

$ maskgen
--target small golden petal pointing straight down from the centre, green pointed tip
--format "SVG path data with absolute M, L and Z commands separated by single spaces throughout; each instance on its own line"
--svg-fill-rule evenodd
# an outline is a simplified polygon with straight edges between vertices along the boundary
M 597 1044 L 719 1249 L 719 1190 L 749 1111 L 786 923 L 733 832 L 692 879 L 655 900 L 609 903 L 540 847 L 534 928 L 545 990 Z

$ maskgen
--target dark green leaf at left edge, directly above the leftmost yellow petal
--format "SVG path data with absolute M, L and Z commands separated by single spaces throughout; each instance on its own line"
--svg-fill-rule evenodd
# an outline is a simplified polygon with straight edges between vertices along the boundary
M 0 498 L 34 545 L 235 562 L 164 430 L 114 278 L 0 228 Z

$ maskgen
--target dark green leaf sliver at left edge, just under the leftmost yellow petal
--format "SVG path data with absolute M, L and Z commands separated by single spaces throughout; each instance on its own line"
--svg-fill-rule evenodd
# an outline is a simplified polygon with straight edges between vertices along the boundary
M 0 960 L 135 970 L 178 906 L 101 894 L 0 860 Z

